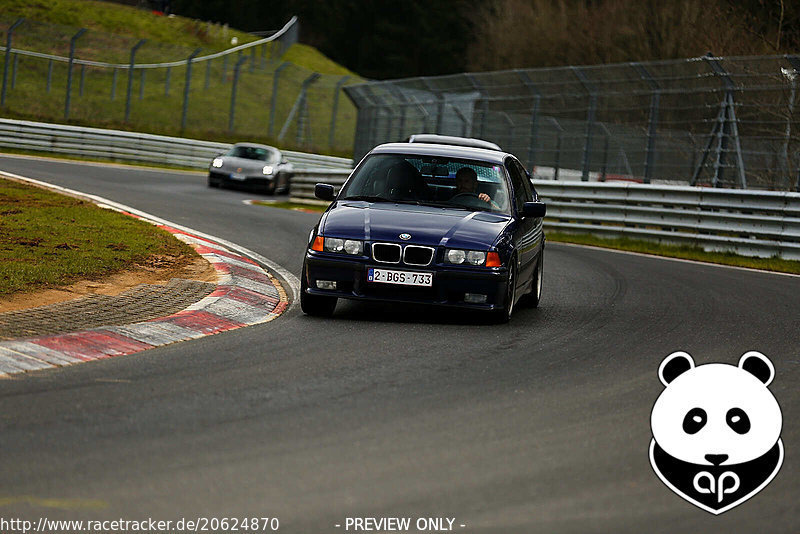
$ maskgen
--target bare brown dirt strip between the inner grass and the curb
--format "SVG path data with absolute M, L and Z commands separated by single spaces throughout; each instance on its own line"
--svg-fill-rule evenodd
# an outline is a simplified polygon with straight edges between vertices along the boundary
M 202 256 L 156 256 L 143 264 L 97 280 L 81 280 L 70 286 L 13 293 L 0 299 L 0 313 L 65 302 L 90 294 L 118 295 L 139 284 L 164 285 L 172 278 L 217 282 L 217 272 Z

